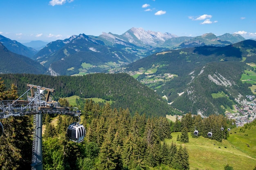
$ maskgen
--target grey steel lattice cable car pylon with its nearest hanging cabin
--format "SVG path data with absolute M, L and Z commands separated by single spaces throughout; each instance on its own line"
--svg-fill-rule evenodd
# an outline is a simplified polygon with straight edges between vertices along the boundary
M 28 90 L 18 97 L 16 100 L 0 101 L 0 119 L 16 116 L 34 115 L 33 126 L 33 144 L 32 144 L 32 170 L 43 170 L 42 157 L 42 126 L 43 114 L 61 114 L 78 116 L 80 120 L 80 112 L 78 108 L 61 107 L 57 101 L 52 100 L 52 88 L 45 88 L 32 84 L 27 84 Z M 25 100 L 25 99 L 26 100 Z M 4 129 L 0 123 L 0 136 Z M 85 128 L 83 125 L 73 123 L 68 127 L 67 136 L 75 142 L 83 141 L 85 136 Z

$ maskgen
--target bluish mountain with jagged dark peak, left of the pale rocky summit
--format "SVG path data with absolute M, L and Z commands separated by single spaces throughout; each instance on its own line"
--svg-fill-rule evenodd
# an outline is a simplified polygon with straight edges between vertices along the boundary
M 106 68 L 114 68 L 139 59 L 122 49 L 105 46 L 102 41 L 94 40 L 85 34 L 51 42 L 36 54 L 36 58 L 56 75 L 73 75 L 80 71 L 104 72 Z M 83 64 L 89 66 L 84 67 Z

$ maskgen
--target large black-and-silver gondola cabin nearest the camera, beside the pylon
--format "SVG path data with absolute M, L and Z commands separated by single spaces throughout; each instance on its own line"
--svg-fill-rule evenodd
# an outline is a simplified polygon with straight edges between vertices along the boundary
M 82 124 L 73 123 L 67 128 L 67 137 L 77 143 L 83 141 L 85 137 L 85 127 Z

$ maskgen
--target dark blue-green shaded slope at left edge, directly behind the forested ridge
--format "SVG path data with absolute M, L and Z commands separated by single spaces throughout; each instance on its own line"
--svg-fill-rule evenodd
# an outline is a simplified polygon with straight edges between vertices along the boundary
M 19 55 L 9 51 L 0 42 L 0 73 L 30 73 L 45 74 L 44 68 L 38 62 L 31 60 L 29 57 Z

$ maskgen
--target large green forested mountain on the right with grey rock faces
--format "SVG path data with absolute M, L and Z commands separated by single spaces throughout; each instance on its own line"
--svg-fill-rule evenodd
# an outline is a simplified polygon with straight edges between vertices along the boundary
M 243 104 L 246 95 L 252 95 L 249 85 L 240 81 L 244 70 L 250 67 L 247 62 L 256 63 L 256 41 L 164 51 L 120 71 L 137 74 L 139 81 L 165 95 L 173 107 L 184 113 L 224 114 L 223 107 Z M 214 99 L 212 93 L 227 97 Z M 223 102 L 225 106 L 221 106 Z

